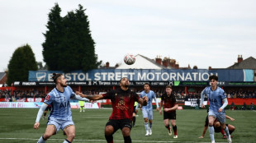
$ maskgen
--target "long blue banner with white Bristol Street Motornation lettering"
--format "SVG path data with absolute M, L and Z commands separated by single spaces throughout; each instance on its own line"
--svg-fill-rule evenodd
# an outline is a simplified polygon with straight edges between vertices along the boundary
M 120 81 L 128 77 L 130 81 L 208 81 L 209 76 L 219 76 L 219 81 L 254 81 L 254 70 L 143 70 L 143 69 L 96 69 L 88 72 L 72 71 L 29 71 L 28 81 L 53 81 L 52 74 L 62 73 L 67 81 Z M 27 83 L 36 84 L 36 83 Z

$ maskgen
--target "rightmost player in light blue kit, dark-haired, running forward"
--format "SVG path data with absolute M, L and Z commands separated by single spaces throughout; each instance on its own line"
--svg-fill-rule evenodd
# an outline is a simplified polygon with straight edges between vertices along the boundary
M 215 121 L 216 118 L 218 121 L 220 121 L 220 126 L 225 131 L 225 134 L 227 136 L 227 141 L 231 143 L 232 141 L 231 141 L 229 129 L 228 127 L 225 126 L 224 108 L 228 104 L 225 91 L 217 86 L 218 76 L 211 75 L 209 77 L 209 80 L 210 80 L 211 86 L 208 86 L 201 91 L 201 108 L 205 108 L 205 105 L 203 104 L 203 100 L 205 95 L 207 95 L 209 104 L 210 104 L 208 120 L 209 120 L 209 133 L 211 137 L 211 143 L 215 143 L 213 122 Z M 223 101 L 223 104 L 222 104 L 222 101 Z

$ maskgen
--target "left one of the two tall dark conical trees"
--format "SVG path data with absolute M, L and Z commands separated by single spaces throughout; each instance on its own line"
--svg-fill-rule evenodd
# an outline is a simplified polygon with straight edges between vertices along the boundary
M 47 29 L 45 35 L 45 42 L 43 46 L 44 61 L 48 65 L 49 70 L 60 70 L 59 58 L 61 57 L 61 44 L 64 35 L 63 18 L 60 16 L 61 9 L 58 3 L 50 10 L 48 15 Z

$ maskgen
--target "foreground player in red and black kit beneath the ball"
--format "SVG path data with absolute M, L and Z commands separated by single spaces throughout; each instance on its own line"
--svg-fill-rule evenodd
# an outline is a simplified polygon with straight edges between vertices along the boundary
M 143 99 L 140 98 L 135 92 L 129 89 L 130 82 L 128 78 L 123 77 L 120 81 L 120 89 L 107 92 L 106 95 L 83 95 L 82 93 L 76 93 L 81 97 L 98 100 L 98 99 L 111 99 L 112 113 L 109 121 L 105 127 L 105 138 L 108 143 L 113 142 L 113 134 L 121 129 L 124 136 L 125 143 L 130 143 L 130 129 L 132 122 L 132 112 L 135 101 L 139 104 L 147 105 L 148 98 L 146 96 Z

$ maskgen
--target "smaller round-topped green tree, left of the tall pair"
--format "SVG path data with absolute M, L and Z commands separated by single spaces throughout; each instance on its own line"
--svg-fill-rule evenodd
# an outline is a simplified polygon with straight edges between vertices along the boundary
M 28 71 L 37 71 L 37 62 L 31 46 L 17 48 L 8 64 L 7 85 L 14 81 L 28 81 Z

